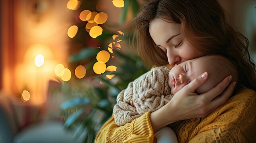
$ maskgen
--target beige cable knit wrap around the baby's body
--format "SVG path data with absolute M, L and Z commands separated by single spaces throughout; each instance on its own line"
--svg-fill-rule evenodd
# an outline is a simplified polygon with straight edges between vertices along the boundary
M 117 104 L 113 108 L 117 125 L 123 126 L 146 112 L 154 112 L 172 99 L 168 86 L 170 69 L 153 68 L 129 83 L 127 89 L 117 95 Z

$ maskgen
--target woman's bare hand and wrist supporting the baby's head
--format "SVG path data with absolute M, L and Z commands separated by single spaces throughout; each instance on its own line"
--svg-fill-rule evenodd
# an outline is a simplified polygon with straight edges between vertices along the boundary
M 220 105 L 227 102 L 232 95 L 235 82 L 230 83 L 232 76 L 228 76 L 209 91 L 197 95 L 195 90 L 207 80 L 205 72 L 178 91 L 172 100 L 159 110 L 150 114 L 150 120 L 154 131 L 179 121 L 190 118 L 207 116 Z M 227 87 L 227 88 L 226 88 Z

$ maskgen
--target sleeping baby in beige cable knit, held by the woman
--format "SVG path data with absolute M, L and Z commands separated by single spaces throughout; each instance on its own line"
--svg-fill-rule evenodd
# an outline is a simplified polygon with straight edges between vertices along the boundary
M 231 61 L 219 55 L 208 55 L 181 64 L 169 67 L 157 67 L 141 75 L 135 81 L 129 83 L 117 95 L 117 104 L 113 108 L 117 125 L 122 126 L 146 112 L 154 112 L 203 72 L 209 74 L 207 81 L 196 89 L 197 94 L 202 94 L 215 87 L 228 75 L 232 75 L 232 81 L 238 83 L 238 73 Z M 175 123 L 170 124 L 170 127 Z M 165 127 L 155 132 L 158 143 L 162 141 L 177 142 L 174 131 Z M 171 140 L 171 141 L 170 141 Z

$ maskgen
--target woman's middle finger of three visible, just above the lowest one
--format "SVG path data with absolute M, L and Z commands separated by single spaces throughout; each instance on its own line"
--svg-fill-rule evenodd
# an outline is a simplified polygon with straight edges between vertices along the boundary
M 212 89 L 210 89 L 209 91 L 207 91 L 206 93 L 201 94 L 201 98 L 203 98 L 204 100 L 207 100 L 208 102 L 210 102 L 211 100 L 213 100 L 215 97 L 217 97 L 218 95 L 220 95 L 221 93 L 223 93 L 223 91 L 225 90 L 225 88 L 229 85 L 230 81 L 232 79 L 232 76 L 227 76 L 225 79 L 223 79 L 218 85 L 216 85 L 215 87 L 213 87 Z M 234 88 L 233 88 L 234 89 Z M 227 91 L 227 90 L 226 90 Z M 228 90 L 229 91 L 229 90 Z M 232 93 L 232 91 L 229 91 L 229 93 Z M 222 94 L 224 97 L 228 96 L 227 94 Z M 231 94 L 230 94 L 231 95 Z M 227 97 L 228 98 L 228 97 Z

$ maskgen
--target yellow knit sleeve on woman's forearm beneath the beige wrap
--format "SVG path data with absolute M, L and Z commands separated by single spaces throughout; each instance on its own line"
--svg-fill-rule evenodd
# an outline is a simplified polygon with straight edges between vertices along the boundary
M 98 132 L 95 143 L 127 143 L 141 142 L 153 143 L 154 132 L 150 124 L 150 112 L 127 123 L 124 126 L 117 126 L 112 116 Z

